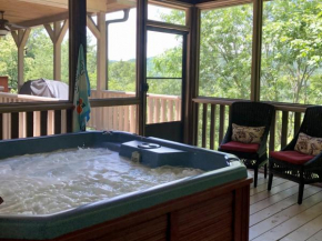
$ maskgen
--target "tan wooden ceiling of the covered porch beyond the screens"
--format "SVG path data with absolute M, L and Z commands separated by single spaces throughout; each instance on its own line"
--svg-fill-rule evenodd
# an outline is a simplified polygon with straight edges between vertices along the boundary
M 87 0 L 88 12 L 112 12 L 135 7 L 135 0 Z M 33 27 L 68 18 L 68 0 L 0 0 L 10 23 Z

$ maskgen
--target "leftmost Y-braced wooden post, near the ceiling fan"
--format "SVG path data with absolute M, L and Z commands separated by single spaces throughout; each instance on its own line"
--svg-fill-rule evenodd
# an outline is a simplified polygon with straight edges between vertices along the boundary
M 23 60 L 24 60 L 24 47 L 28 40 L 28 37 L 30 34 L 30 29 L 26 30 L 18 30 L 18 33 L 16 31 L 12 31 L 12 38 L 16 42 L 16 46 L 18 48 L 18 90 L 22 87 L 24 79 L 23 79 Z

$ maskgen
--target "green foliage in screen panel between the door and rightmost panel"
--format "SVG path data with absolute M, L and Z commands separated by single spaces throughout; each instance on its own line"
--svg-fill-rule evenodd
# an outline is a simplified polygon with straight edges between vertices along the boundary
M 203 11 L 201 18 L 200 96 L 250 99 L 252 7 Z

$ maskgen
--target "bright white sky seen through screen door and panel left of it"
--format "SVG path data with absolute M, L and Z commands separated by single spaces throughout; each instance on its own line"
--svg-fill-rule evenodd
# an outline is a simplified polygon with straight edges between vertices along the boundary
M 149 18 L 158 20 L 160 7 L 149 6 Z M 170 10 L 162 8 L 162 12 Z M 123 17 L 123 12 L 108 13 L 107 20 L 119 19 Z M 95 19 L 94 19 L 95 21 Z M 127 22 L 112 23 L 109 26 L 109 59 L 110 60 L 130 60 L 135 59 L 135 31 L 137 31 L 137 9 L 130 10 L 129 20 Z M 88 34 L 95 42 L 95 38 L 88 29 Z M 148 58 L 163 53 L 167 49 L 171 49 L 180 44 L 175 39 L 175 34 L 160 33 L 148 31 Z

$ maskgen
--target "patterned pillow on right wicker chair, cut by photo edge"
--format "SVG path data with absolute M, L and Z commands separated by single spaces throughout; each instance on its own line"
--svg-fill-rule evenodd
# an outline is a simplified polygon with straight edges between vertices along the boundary
M 303 154 L 320 154 L 322 151 L 322 138 L 312 138 L 300 132 L 294 150 Z

